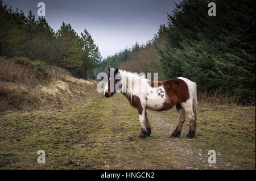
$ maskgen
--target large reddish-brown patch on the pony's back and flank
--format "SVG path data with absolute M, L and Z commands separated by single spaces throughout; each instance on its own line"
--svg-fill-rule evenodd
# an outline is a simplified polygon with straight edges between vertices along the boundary
M 148 81 L 148 84 L 151 87 L 154 87 L 154 81 Z M 158 111 L 168 110 L 177 106 L 177 104 L 179 104 L 177 108 L 181 108 L 181 103 L 186 102 L 189 99 L 188 85 L 182 79 L 174 78 L 167 81 L 159 81 L 156 84 L 158 86 L 163 86 L 167 95 L 163 107 Z M 162 92 L 162 90 L 160 91 Z

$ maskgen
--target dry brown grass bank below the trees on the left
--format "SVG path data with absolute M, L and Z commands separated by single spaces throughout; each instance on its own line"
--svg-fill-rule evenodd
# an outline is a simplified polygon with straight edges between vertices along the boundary
M 95 81 L 74 78 L 55 66 L 40 65 L 39 71 L 5 57 L 0 57 L 0 65 L 0 111 L 55 110 L 84 101 L 96 89 Z

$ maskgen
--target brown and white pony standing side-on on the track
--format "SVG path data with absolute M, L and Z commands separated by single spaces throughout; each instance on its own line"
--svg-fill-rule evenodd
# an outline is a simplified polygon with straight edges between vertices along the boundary
M 137 73 L 108 68 L 108 83 L 104 95 L 110 98 L 115 92 L 122 92 L 131 106 L 137 108 L 141 123 L 139 138 L 150 136 L 151 127 L 146 110 L 164 111 L 176 106 L 179 122 L 171 137 L 180 137 L 185 121 L 185 113 L 189 119 L 188 138 L 195 137 L 196 132 L 196 83 L 187 78 L 178 77 L 167 81 L 150 81 Z M 111 81 L 110 75 L 114 75 Z M 118 85 L 119 83 L 119 85 Z M 155 85 L 155 86 L 154 86 Z M 113 89 L 114 87 L 115 89 Z M 112 91 L 110 91 L 112 90 Z

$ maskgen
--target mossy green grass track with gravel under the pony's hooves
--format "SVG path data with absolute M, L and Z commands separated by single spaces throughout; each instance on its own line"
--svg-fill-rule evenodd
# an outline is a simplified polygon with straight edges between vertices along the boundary
M 255 107 L 200 105 L 193 139 L 185 138 L 188 121 L 170 138 L 177 116 L 148 111 L 152 134 L 141 140 L 137 110 L 120 94 L 94 93 L 54 112 L 2 113 L 0 169 L 255 169 Z M 208 150 L 216 150 L 216 164 Z

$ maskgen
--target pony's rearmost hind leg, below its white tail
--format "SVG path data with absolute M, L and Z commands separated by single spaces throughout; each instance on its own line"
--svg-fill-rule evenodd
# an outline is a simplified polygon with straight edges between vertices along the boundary
M 188 138 L 195 137 L 196 136 L 196 116 L 195 116 L 195 113 L 193 112 L 192 103 L 190 102 L 184 103 L 183 108 L 187 113 L 188 119 L 189 119 L 189 131 L 188 131 L 187 137 Z

